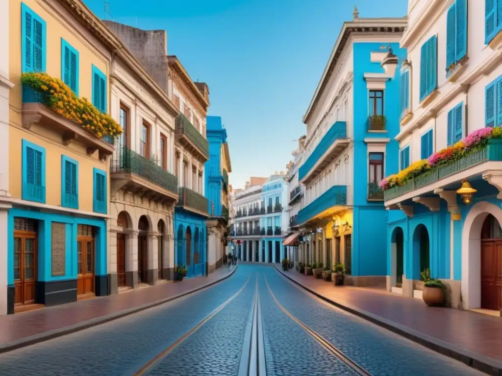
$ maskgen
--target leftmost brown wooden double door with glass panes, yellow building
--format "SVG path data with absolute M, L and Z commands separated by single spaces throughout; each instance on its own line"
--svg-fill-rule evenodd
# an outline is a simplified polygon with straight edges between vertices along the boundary
M 14 304 L 35 303 L 37 239 L 28 231 L 14 232 Z

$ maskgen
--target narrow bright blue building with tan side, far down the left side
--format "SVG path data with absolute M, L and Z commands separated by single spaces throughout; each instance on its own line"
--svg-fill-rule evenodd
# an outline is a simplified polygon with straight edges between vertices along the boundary
M 208 198 L 208 268 L 209 273 L 219 268 L 226 253 L 228 238 L 228 173 L 232 172 L 226 129 L 221 117 L 207 116 L 209 160 L 206 162 L 205 192 Z

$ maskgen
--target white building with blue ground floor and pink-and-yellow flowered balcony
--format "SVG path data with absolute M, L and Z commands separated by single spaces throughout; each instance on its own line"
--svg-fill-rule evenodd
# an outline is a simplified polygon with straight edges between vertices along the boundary
M 449 285 L 450 306 L 502 309 L 502 145 L 486 139 L 502 124 L 501 19 L 496 2 L 408 3 L 401 172 L 385 185 L 391 291 L 421 297 L 430 268 Z M 463 181 L 477 192 L 460 197 Z

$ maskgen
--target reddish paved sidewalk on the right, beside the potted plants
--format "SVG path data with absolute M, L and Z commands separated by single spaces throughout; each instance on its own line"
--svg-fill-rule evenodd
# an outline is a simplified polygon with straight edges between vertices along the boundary
M 483 372 L 502 375 L 502 318 L 453 308 L 384 289 L 333 286 L 296 270 L 279 273 L 319 298 Z

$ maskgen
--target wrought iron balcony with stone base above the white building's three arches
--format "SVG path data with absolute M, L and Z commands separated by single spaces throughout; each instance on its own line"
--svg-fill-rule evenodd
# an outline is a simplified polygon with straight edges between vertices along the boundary
M 174 202 L 178 198 L 178 178 L 126 146 L 113 153 L 110 178 L 113 191 L 142 193 L 154 201 Z

